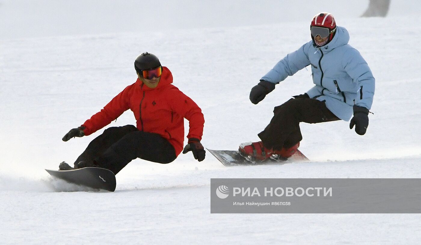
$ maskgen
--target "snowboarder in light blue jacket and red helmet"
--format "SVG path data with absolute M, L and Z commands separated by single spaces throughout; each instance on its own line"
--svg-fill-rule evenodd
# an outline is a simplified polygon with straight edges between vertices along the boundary
M 257 104 L 275 88 L 275 84 L 311 66 L 315 84 L 304 95 L 293 96 L 274 108 L 274 117 L 258 134 L 261 141 L 240 145 L 240 152 L 264 160 L 272 154 L 288 158 L 302 140 L 299 123 L 352 119 L 357 134 L 365 134 L 368 113 L 373 103 L 375 79 L 358 50 L 348 44 L 348 31 L 336 26 L 330 13 L 314 16 L 310 25 L 312 41 L 288 54 L 264 75 L 250 92 Z

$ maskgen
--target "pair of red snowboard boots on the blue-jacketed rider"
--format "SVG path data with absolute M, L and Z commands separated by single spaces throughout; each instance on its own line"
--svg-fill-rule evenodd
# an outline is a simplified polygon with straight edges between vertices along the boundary
M 266 149 L 263 146 L 263 143 L 261 141 L 258 141 L 258 142 L 242 143 L 238 151 L 242 155 L 250 156 L 250 157 L 263 161 L 269 158 L 273 154 L 280 155 L 283 158 L 289 158 L 294 153 L 296 153 L 299 146 L 300 146 L 300 142 L 298 142 L 296 145 L 288 149 L 282 148 L 282 150 L 272 150 L 272 149 Z

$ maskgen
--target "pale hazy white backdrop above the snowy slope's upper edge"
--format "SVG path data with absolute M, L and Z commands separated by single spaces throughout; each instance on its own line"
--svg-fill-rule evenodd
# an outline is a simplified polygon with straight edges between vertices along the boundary
M 368 6 L 368 0 L 348 2 L 0 0 L 0 39 L 142 31 L 147 35 L 149 31 L 157 29 L 249 26 L 300 21 L 311 19 L 318 12 L 330 12 L 336 18 L 346 18 L 360 16 Z M 392 0 L 392 5 L 393 2 L 396 1 Z M 314 6 L 316 3 L 317 6 Z M 407 8 L 405 13 L 411 11 L 417 12 L 413 8 Z

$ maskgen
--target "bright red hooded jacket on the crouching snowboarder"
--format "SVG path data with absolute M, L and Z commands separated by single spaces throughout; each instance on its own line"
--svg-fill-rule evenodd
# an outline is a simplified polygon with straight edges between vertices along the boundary
M 85 135 L 92 134 L 130 109 L 139 130 L 160 134 L 174 146 L 176 155 L 179 155 L 183 150 L 184 118 L 189 120 L 187 138 L 199 140 L 202 139 L 205 119 L 199 106 L 172 82 L 173 75 L 165 66 L 160 82 L 154 89 L 137 79 L 105 105 L 104 109 L 86 120 L 82 124 L 85 126 L 83 132 Z

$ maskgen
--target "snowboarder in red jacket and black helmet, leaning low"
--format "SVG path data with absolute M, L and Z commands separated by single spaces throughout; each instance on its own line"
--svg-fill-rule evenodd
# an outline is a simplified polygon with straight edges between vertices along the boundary
M 102 129 L 130 109 L 136 126 L 110 127 L 89 143 L 75 161 L 75 167 L 60 163 L 60 170 L 96 166 L 117 174 L 130 161 L 141 158 L 156 163 L 170 163 L 183 150 L 184 118 L 189 120 L 188 143 L 183 153 L 192 151 L 203 161 L 200 143 L 205 119 L 197 104 L 172 85 L 171 71 L 161 66 L 151 53 L 142 53 L 134 63 L 138 79 L 114 97 L 104 109 L 63 137 L 83 137 Z

